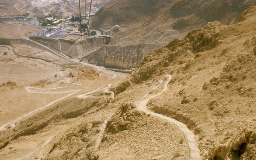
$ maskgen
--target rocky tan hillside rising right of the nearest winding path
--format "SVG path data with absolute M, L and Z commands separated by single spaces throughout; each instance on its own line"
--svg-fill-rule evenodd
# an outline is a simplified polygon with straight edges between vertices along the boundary
M 255 35 L 256 6 L 234 25 L 210 22 L 150 53 L 113 91 L 135 94 L 171 74 L 169 89 L 148 107 L 187 124 L 203 160 L 256 159 Z

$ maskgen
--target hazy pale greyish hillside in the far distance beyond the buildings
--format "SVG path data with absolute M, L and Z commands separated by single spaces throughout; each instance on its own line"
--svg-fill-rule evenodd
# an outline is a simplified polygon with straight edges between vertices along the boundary
M 94 0 L 92 14 L 95 14 L 109 0 Z M 87 3 L 89 13 L 90 2 Z M 13 7 L 14 6 L 14 7 Z M 85 7 L 85 0 L 81 0 L 81 7 Z M 82 9 L 84 11 L 84 9 Z M 19 15 L 23 13 L 33 15 L 44 15 L 53 13 L 57 16 L 70 16 L 79 12 L 78 0 L 5 0 L 0 2 L 0 15 Z

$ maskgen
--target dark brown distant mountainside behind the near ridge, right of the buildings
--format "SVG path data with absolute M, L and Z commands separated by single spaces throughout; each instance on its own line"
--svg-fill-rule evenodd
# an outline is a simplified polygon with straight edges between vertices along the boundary
M 254 3 L 254 0 L 111 0 L 92 18 L 91 26 L 111 29 L 119 25 L 129 27 L 130 31 L 168 9 L 165 16 L 158 17 L 159 20 L 142 28 L 140 32 L 147 34 L 156 28 L 165 32 L 170 29 L 181 30 L 210 21 L 230 24 L 237 21 L 247 5 Z M 162 27 L 166 23 L 169 25 L 167 29 Z

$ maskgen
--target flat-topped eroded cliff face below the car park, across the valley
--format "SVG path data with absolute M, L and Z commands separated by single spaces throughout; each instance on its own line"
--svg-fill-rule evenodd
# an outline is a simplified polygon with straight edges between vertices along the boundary
M 100 49 L 85 57 L 89 63 L 94 63 L 104 67 L 113 68 L 133 68 L 148 53 L 158 48 L 162 43 L 156 44 L 130 44 L 122 46 L 104 45 Z

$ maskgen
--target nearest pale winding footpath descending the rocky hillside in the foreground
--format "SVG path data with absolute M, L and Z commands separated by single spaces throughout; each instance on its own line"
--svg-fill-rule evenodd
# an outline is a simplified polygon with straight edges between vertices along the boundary
M 184 134 L 184 136 L 185 136 L 185 138 L 187 140 L 187 144 L 189 146 L 189 151 L 190 151 L 190 160 L 202 160 L 202 157 L 200 156 L 200 150 L 197 148 L 197 144 L 196 144 L 196 140 L 195 140 L 195 135 L 194 135 L 194 133 L 191 130 L 189 130 L 187 128 L 186 124 L 183 124 L 183 123 L 181 123 L 181 122 L 179 122 L 179 121 L 177 121 L 177 120 L 175 120 L 173 118 L 166 117 L 164 115 L 161 115 L 161 114 L 158 114 L 158 113 L 155 113 L 155 112 L 151 112 L 147 108 L 147 103 L 148 103 L 148 101 L 150 99 L 155 98 L 156 96 L 161 95 L 164 91 L 166 91 L 168 89 L 168 83 L 170 82 L 170 80 L 171 80 L 171 75 L 167 75 L 167 80 L 165 82 L 163 91 L 161 91 L 158 94 L 149 96 L 145 100 L 139 102 L 139 104 L 137 105 L 137 108 L 138 108 L 138 110 L 143 111 L 143 112 L 145 112 L 147 114 L 151 114 L 151 115 L 153 115 L 155 117 L 164 119 L 164 120 L 169 121 L 171 123 L 174 123 L 182 131 L 182 133 Z

